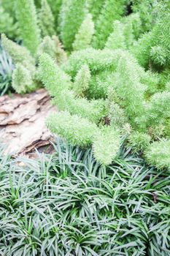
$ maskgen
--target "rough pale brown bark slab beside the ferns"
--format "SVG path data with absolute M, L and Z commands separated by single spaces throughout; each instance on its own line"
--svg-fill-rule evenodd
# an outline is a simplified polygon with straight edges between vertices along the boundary
M 52 111 L 55 108 L 45 89 L 0 97 L 0 135 L 6 152 L 17 156 L 30 154 L 35 148 L 46 150 L 53 137 L 45 127 L 45 118 Z

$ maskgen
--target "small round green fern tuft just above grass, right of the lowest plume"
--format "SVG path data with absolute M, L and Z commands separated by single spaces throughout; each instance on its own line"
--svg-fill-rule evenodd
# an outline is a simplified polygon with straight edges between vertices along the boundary
M 133 132 L 128 138 L 128 146 L 131 146 L 134 152 L 144 152 L 150 146 L 150 135 L 143 132 Z

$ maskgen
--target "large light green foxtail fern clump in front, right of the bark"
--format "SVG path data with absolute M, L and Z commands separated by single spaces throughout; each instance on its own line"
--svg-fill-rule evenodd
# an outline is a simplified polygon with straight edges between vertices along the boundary
M 49 60 L 48 64 L 47 59 Z M 139 140 L 136 144 L 134 143 L 136 149 L 135 146 L 133 148 L 134 151 L 144 151 L 147 146 L 150 146 L 148 139 L 150 137 L 147 133 L 151 133 L 153 139 L 156 138 L 158 135 L 155 134 L 155 128 L 160 127 L 169 118 L 169 92 L 156 92 L 148 96 L 148 91 L 153 90 L 158 79 L 155 79 L 154 74 L 145 72 L 127 51 L 120 49 L 94 50 L 93 48 L 76 51 L 72 53 L 62 68 L 66 73 L 58 69 L 50 57 L 42 56 L 40 58 L 42 81 L 44 79 L 44 84 L 54 97 L 53 103 L 58 106 L 58 109 L 69 111 L 71 115 L 76 114 L 82 118 L 88 118 L 98 125 L 101 133 L 96 135 L 98 136 L 97 142 L 95 143 L 95 137 L 93 137 L 91 143 L 93 146 L 95 145 L 93 147 L 95 148 L 94 154 L 98 152 L 95 156 L 98 161 L 101 160 L 102 164 L 104 164 L 104 159 L 105 165 L 111 163 L 116 156 L 115 148 L 118 146 L 115 147 L 113 141 L 119 141 L 119 136 L 115 136 L 114 129 L 118 129 L 121 136 L 126 134 L 125 127 L 129 126 L 136 129 L 139 134 L 145 133 L 146 137 L 144 135 L 141 138 L 136 138 Z M 72 78 L 69 77 L 69 81 L 65 81 L 67 74 L 72 76 Z M 75 75 L 76 78 L 72 83 Z M 46 78 L 50 78 L 51 82 Z M 104 82 L 103 78 L 105 79 Z M 100 84 L 103 85 L 103 88 L 98 87 Z M 92 86 L 94 86 L 93 89 Z M 96 91 L 96 88 L 100 91 Z M 94 97 L 96 99 L 93 99 Z M 62 125 L 61 119 L 58 120 L 55 116 L 53 119 L 50 119 L 50 123 L 54 122 L 54 127 L 56 122 L 58 124 L 61 122 Z M 106 124 L 112 130 L 112 132 L 107 133 L 110 141 L 104 135 Z M 65 128 L 63 127 L 63 129 Z M 68 129 L 66 129 L 66 133 L 61 132 L 61 129 L 55 129 L 56 134 L 69 140 L 67 132 L 69 132 Z M 76 136 L 75 133 L 74 141 L 76 141 Z M 107 153 L 109 160 L 105 154 L 106 150 L 101 148 L 109 148 Z M 109 157 L 109 153 L 112 157 Z

